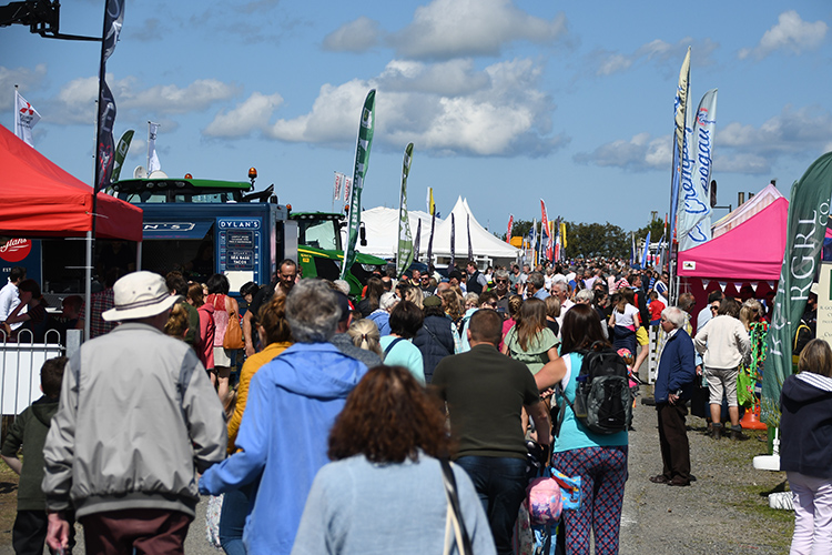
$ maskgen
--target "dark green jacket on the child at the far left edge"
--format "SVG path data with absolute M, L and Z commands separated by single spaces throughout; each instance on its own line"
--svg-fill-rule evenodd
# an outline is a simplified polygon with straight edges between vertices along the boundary
M 3 456 L 17 456 L 23 445 L 23 470 L 18 486 L 18 511 L 45 511 L 47 496 L 41 490 L 43 480 L 43 444 L 49 423 L 58 411 L 58 397 L 45 395 L 32 403 L 14 418 L 3 442 Z

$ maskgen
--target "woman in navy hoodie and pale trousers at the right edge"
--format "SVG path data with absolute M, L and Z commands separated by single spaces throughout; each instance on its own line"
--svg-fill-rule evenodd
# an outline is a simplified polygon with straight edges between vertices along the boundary
M 780 470 L 794 500 L 791 554 L 832 546 L 832 349 L 812 340 L 780 395 Z

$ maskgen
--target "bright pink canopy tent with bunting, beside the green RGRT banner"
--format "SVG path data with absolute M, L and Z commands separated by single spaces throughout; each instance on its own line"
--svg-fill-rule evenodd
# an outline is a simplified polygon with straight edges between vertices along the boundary
M 698 306 L 693 316 L 704 306 L 708 293 L 718 287 L 741 297 L 750 287 L 755 299 L 775 291 L 788 218 L 789 201 L 779 198 L 722 235 L 679 253 L 680 291 L 693 293 Z

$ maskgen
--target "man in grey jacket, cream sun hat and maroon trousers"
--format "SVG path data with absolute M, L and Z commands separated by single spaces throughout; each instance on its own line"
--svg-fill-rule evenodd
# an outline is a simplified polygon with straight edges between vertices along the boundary
M 103 319 L 121 325 L 70 359 L 47 436 L 47 542 L 67 546 L 72 505 L 89 553 L 183 553 L 196 472 L 225 455 L 223 407 L 194 351 L 162 333 L 181 296 L 152 272 L 113 290 Z

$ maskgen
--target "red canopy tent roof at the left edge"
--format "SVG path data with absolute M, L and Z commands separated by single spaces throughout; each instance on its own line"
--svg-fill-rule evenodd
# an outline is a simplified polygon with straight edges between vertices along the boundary
M 95 235 L 142 240 L 142 211 L 98 195 Z M 92 228 L 92 188 L 0 125 L 0 231 L 21 236 L 83 236 Z

